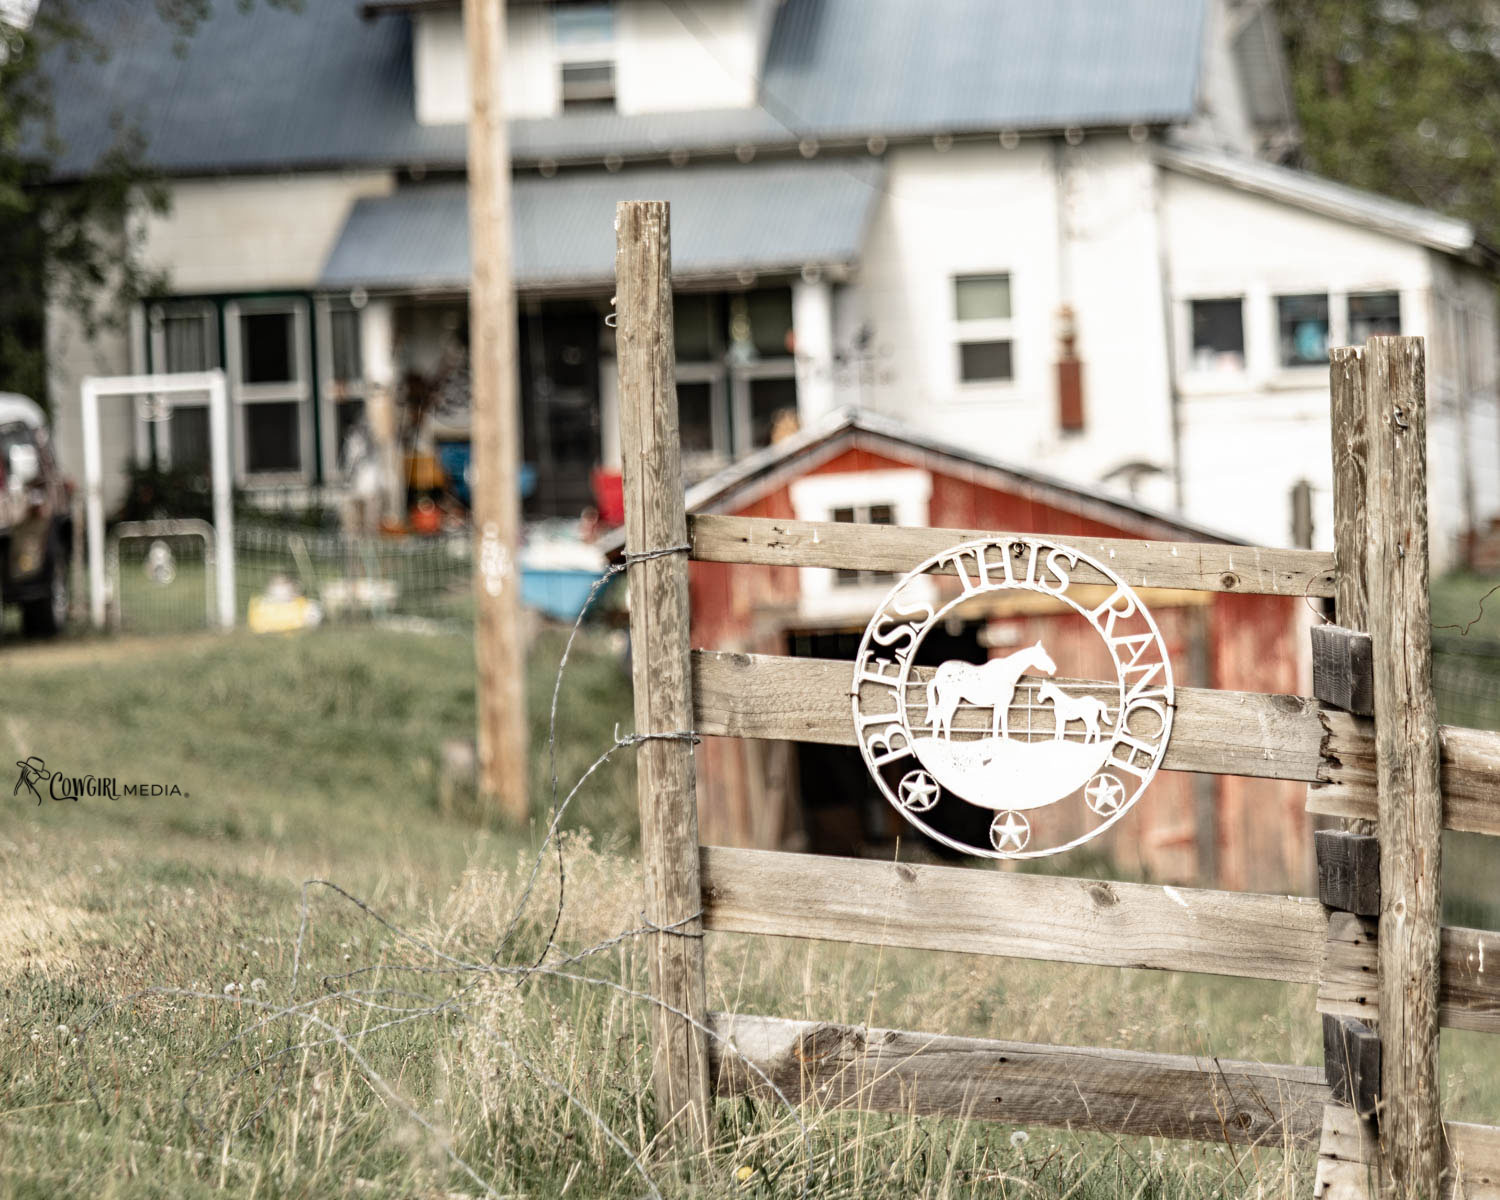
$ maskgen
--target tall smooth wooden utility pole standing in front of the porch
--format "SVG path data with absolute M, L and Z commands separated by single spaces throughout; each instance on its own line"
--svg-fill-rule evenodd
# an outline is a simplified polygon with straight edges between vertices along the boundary
M 530 814 L 526 654 L 520 632 L 520 411 L 510 284 L 506 0 L 464 0 L 470 62 L 470 426 L 478 792 L 513 822 Z

